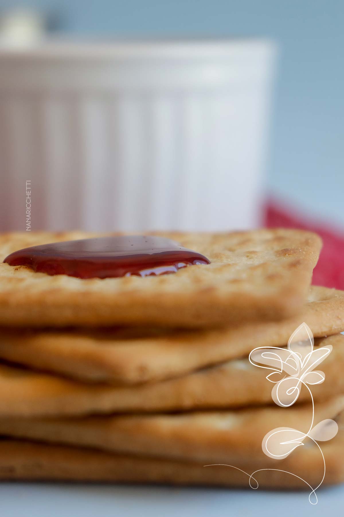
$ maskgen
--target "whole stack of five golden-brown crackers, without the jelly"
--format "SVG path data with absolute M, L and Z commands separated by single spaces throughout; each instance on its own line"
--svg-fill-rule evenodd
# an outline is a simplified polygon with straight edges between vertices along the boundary
M 324 483 L 344 481 L 344 293 L 310 287 L 320 239 L 296 230 L 163 235 L 211 263 L 89 280 L 0 264 L 0 478 L 248 486 L 259 470 L 259 486 L 317 486 L 315 442 L 282 460 L 261 446 L 277 427 L 307 432 L 309 392 L 277 406 L 269 372 L 248 357 L 286 346 L 306 322 L 315 347 L 333 346 L 325 382 L 312 386 L 314 424 L 337 422 L 322 446 Z M 5 234 L 0 259 L 90 236 Z

